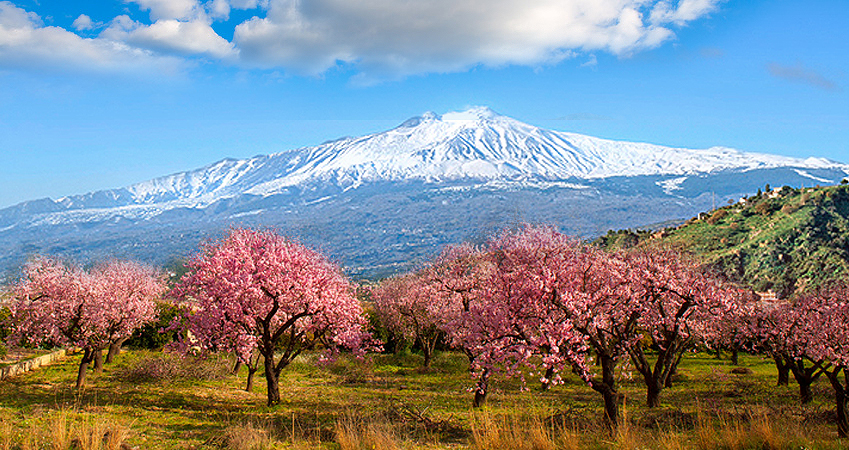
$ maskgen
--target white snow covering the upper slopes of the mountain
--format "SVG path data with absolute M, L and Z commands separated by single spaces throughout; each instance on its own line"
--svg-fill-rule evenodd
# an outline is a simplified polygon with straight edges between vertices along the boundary
M 239 195 L 269 196 L 318 184 L 349 190 L 379 181 L 527 184 L 640 175 L 677 177 L 664 185 L 672 193 L 685 176 L 776 167 L 794 167 L 804 173 L 802 169 L 849 166 L 724 147 L 692 150 L 599 139 L 545 130 L 477 107 L 442 116 L 428 112 L 381 133 L 250 159 L 226 159 L 123 189 L 66 197 L 58 203 L 71 210 L 120 207 L 143 218 L 162 209 L 198 208 Z M 43 220 L 60 218 L 54 214 Z M 61 217 L 61 221 L 69 220 L 75 219 Z

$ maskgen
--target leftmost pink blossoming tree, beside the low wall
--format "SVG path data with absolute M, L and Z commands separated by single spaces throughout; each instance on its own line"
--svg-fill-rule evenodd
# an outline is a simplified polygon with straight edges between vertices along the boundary
M 164 290 L 162 277 L 135 263 L 116 261 L 87 272 L 39 258 L 24 268 L 10 304 L 15 337 L 82 348 L 81 388 L 98 353 L 153 320 L 153 300 Z

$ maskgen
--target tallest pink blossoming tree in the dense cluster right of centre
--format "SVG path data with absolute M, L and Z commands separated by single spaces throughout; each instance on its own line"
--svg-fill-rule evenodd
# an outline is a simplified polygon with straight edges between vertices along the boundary
M 626 262 L 551 227 L 530 225 L 494 241 L 489 254 L 495 270 L 483 326 L 503 330 L 506 339 L 489 341 L 483 354 L 497 351 L 499 358 L 536 365 L 545 370 L 546 385 L 562 382 L 563 370 L 578 374 L 602 396 L 605 420 L 615 427 L 616 367 L 641 336 Z M 499 358 L 491 357 L 504 364 Z

